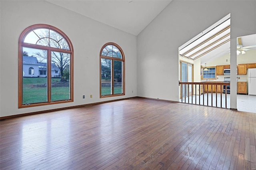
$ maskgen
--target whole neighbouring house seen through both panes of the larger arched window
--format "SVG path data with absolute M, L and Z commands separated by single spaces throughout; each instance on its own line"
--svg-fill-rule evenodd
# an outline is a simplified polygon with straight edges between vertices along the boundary
M 60 77 L 60 69 L 52 63 L 52 77 Z M 36 57 L 23 56 L 23 77 L 46 77 L 46 63 L 38 62 Z

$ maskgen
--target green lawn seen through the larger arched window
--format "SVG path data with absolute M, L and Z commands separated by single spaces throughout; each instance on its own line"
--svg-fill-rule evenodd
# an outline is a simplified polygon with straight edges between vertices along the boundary
M 52 83 L 60 81 L 59 79 L 52 79 Z M 23 78 L 23 104 L 26 103 L 40 103 L 47 102 L 47 87 L 43 85 L 47 84 L 47 78 Z M 35 85 L 42 85 L 35 86 Z M 52 87 L 51 101 L 70 99 L 69 87 Z

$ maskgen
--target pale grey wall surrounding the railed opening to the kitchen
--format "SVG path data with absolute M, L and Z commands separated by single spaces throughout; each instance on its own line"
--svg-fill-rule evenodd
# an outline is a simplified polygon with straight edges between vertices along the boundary
M 255 34 L 256 1 L 173 0 L 137 36 L 138 96 L 178 101 L 178 47 L 229 13 L 231 71 L 236 71 L 234 41 L 238 36 Z M 232 86 L 236 89 L 236 81 Z M 236 90 L 231 93 L 235 101 L 232 99 L 230 107 L 236 108 Z

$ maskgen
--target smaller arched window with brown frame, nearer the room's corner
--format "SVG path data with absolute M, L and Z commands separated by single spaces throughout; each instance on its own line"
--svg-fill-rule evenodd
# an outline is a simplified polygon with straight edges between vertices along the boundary
M 124 52 L 116 43 L 100 50 L 100 97 L 124 95 Z

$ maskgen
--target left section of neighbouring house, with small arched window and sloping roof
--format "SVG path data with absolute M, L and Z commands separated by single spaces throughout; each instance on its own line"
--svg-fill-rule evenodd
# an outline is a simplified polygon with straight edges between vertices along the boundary
M 23 77 L 38 77 L 38 60 L 36 57 L 23 56 Z

